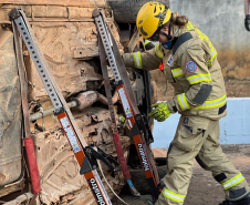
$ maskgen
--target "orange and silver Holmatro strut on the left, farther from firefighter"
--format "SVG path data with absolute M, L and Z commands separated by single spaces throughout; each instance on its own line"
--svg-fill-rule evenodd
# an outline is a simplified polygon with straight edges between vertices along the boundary
M 112 171 L 117 171 L 113 164 L 118 166 L 118 163 L 98 147 L 93 145 L 87 146 L 49 69 L 45 58 L 39 48 L 24 12 L 21 9 L 13 9 L 10 12 L 10 18 L 21 33 L 21 37 L 29 50 L 45 90 L 52 101 L 54 106 L 54 115 L 58 116 L 59 122 L 79 162 L 79 165 L 81 166 L 80 173 L 84 174 L 96 203 L 98 205 L 111 205 L 111 199 L 104 188 L 97 171 L 94 168 L 96 168 L 98 165 L 96 158 L 103 161 Z

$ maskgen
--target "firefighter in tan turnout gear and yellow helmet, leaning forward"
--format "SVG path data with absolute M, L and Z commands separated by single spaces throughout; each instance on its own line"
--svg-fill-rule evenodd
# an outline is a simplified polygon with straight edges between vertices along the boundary
M 225 189 L 221 205 L 249 205 L 250 187 L 219 144 L 219 120 L 227 114 L 227 96 L 217 51 L 209 38 L 186 16 L 158 2 L 145 3 L 136 25 L 144 39 L 159 43 L 146 52 L 125 53 L 128 68 L 164 70 L 175 96 L 154 104 L 149 116 L 158 122 L 179 112 L 179 124 L 167 154 L 167 174 L 156 205 L 184 204 L 194 160 Z

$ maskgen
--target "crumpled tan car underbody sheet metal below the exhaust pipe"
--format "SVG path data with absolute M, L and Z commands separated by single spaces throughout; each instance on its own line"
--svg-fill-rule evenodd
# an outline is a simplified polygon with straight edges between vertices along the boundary
M 74 117 L 87 144 L 97 144 L 107 154 L 116 156 L 108 110 L 90 107 L 83 112 L 75 112 Z M 127 154 L 129 137 L 122 136 L 121 141 Z M 83 175 L 80 175 L 80 166 L 62 129 L 56 126 L 38 133 L 34 143 L 42 186 L 38 203 L 71 204 L 76 199 L 84 201 L 84 205 L 93 203 L 86 181 Z M 113 188 L 121 189 L 121 183 L 124 182 L 122 173 L 118 172 L 113 178 L 105 165 L 103 170 Z M 104 186 L 112 196 L 107 185 L 104 184 Z

